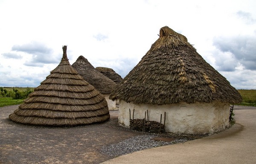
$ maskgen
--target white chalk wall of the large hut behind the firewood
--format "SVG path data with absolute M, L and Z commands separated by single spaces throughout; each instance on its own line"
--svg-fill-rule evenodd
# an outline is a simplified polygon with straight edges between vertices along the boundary
M 144 118 L 148 110 L 149 121 L 162 124 L 164 112 L 166 112 L 166 132 L 174 133 L 212 133 L 229 127 L 229 108 L 227 103 L 195 103 L 195 104 L 171 104 L 171 105 L 150 105 L 131 104 L 123 100 L 119 101 L 119 124 L 129 127 L 129 109 L 131 118 L 134 111 L 134 119 Z

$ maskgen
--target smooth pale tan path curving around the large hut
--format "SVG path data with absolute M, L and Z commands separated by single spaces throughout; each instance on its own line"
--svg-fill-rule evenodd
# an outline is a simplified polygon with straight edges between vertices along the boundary
M 122 155 L 102 164 L 256 164 L 256 110 L 234 110 L 236 124 L 206 138 Z

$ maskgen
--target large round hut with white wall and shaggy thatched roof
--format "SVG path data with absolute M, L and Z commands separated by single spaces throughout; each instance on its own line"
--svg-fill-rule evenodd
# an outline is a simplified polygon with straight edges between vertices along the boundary
M 110 95 L 119 99 L 119 123 L 129 126 L 129 109 L 135 118 L 160 122 L 174 133 L 217 132 L 229 126 L 230 104 L 241 95 L 210 66 L 185 36 L 169 27 Z M 162 121 L 163 123 L 163 121 Z

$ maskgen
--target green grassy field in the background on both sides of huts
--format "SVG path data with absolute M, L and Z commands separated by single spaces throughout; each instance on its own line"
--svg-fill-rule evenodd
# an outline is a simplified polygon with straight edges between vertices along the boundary
M 0 107 L 21 104 L 34 90 L 31 87 L 0 87 Z M 236 105 L 256 106 L 256 89 L 239 89 L 243 102 Z M 16 94 L 16 99 L 15 99 Z M 20 96 L 20 97 L 19 97 Z

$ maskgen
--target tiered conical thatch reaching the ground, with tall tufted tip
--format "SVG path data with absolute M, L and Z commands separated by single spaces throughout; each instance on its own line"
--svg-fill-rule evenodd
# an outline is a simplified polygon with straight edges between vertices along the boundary
M 84 81 L 67 59 L 63 46 L 60 64 L 34 89 L 9 118 L 22 124 L 73 126 L 110 118 L 104 96 Z

